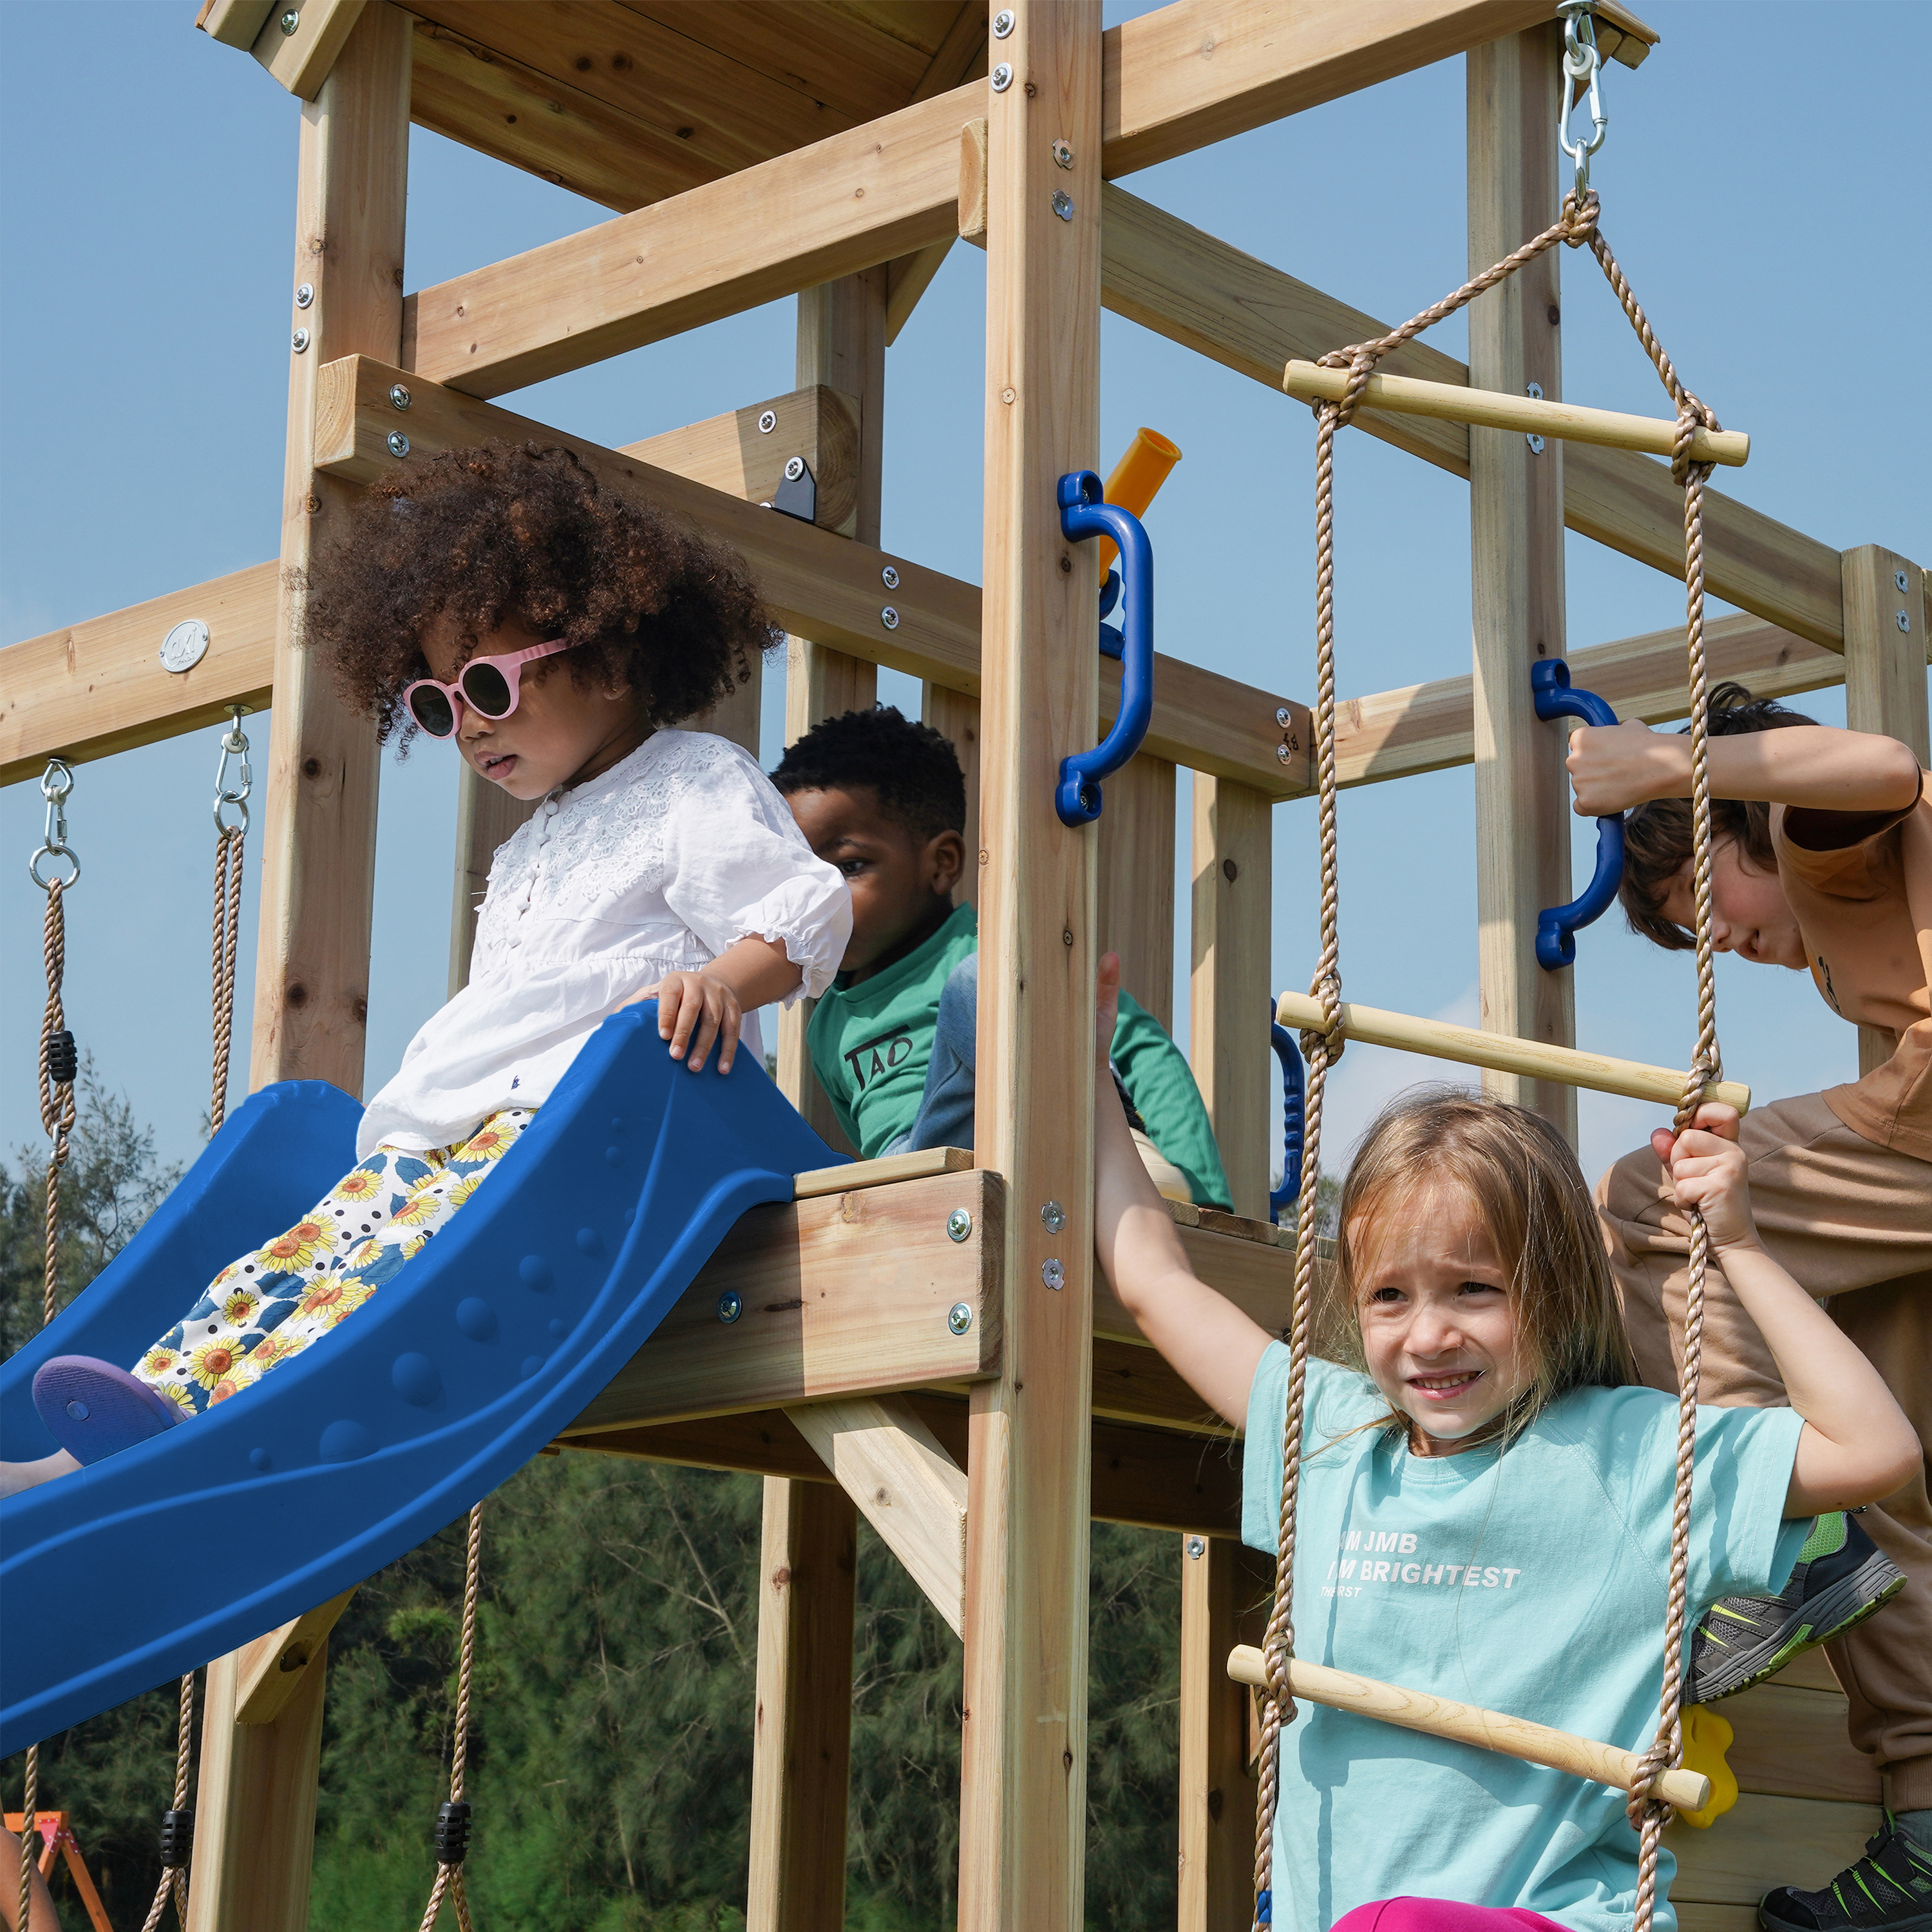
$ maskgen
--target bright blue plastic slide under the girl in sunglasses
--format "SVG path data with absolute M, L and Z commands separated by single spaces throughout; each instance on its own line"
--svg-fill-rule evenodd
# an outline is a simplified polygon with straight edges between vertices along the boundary
M 0 1366 L 0 1455 L 52 1453 L 33 1372 L 133 1364 L 355 1163 L 361 1109 L 257 1094 L 43 1335 Z M 338 1329 L 203 1416 L 0 1501 L 0 1756 L 272 1631 L 524 1466 L 649 1339 L 730 1225 L 838 1155 L 657 1005 L 605 1020 L 477 1198 Z

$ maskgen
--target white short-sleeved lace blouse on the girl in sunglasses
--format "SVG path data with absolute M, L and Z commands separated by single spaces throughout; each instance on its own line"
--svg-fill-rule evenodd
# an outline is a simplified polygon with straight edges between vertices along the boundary
M 543 1105 L 626 999 L 748 935 L 800 968 L 784 1005 L 815 999 L 850 933 L 844 879 L 811 856 L 757 763 L 726 738 L 661 730 L 553 792 L 497 850 L 469 983 L 369 1101 L 355 1155 L 446 1148 L 500 1107 Z M 753 1014 L 740 1051 L 763 1061 Z

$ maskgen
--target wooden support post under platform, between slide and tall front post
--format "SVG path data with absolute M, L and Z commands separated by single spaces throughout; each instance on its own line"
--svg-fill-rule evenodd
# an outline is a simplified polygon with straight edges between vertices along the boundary
M 844 1924 L 856 1575 L 858 1519 L 844 1492 L 767 1476 L 746 1884 L 755 1932 Z

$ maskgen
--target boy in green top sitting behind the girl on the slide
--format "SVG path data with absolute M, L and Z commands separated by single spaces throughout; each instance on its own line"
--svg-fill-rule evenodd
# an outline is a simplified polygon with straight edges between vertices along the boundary
M 771 775 L 806 842 L 852 889 L 844 968 L 806 1030 L 811 1066 L 862 1155 L 970 1148 L 980 929 L 954 906 L 966 779 L 952 746 L 891 707 L 825 719 Z M 1227 1208 L 1194 1074 L 1159 1020 L 1121 995 L 1113 1074 L 1155 1186 Z

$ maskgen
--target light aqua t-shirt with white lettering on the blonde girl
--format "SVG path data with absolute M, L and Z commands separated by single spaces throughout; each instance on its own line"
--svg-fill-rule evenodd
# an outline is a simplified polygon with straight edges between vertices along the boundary
M 1273 1553 L 1289 1350 L 1248 1397 L 1242 1540 Z M 1316 1663 L 1644 1750 L 1658 1725 L 1677 1397 L 1578 1389 L 1501 1455 L 1414 1457 L 1352 1370 L 1308 1364 L 1294 1648 Z M 1812 1520 L 1785 1519 L 1803 1418 L 1700 1408 L 1690 1623 L 1781 1590 Z M 1337 1437 L 1343 1437 L 1337 1441 Z M 1329 1445 L 1321 1449 L 1321 1445 Z M 1320 1453 L 1314 1453 L 1320 1451 Z M 1629 1932 L 1636 1833 L 1607 1785 L 1300 1704 L 1281 1739 L 1275 1924 L 1323 1932 L 1397 1895 L 1524 1907 Z M 1658 1932 L 1675 1861 L 1658 1862 Z

